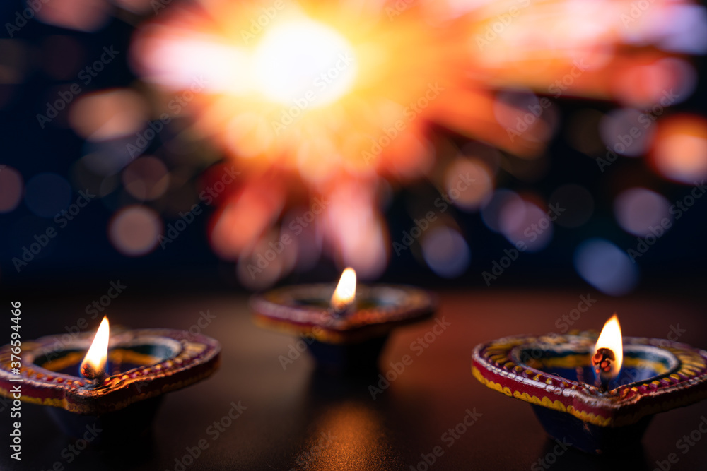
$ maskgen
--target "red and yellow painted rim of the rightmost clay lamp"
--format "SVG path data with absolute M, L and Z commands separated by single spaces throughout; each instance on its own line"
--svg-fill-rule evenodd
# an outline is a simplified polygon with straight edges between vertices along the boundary
M 551 350 L 565 343 L 590 352 L 596 339 L 591 333 L 552 339 L 532 335 L 501 338 L 474 348 L 472 374 L 485 386 L 509 397 L 566 412 L 600 427 L 622 427 L 647 415 L 707 398 L 707 352 L 668 340 L 624 337 L 625 349 L 645 346 L 664 350 L 677 359 L 677 364 L 665 374 L 619 386 L 609 393 L 518 360 L 522 349 Z

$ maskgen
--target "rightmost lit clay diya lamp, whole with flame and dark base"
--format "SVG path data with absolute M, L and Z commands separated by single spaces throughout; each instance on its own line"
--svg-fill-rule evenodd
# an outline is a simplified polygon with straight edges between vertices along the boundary
M 598 339 L 520 335 L 477 345 L 472 374 L 530 403 L 547 434 L 588 453 L 640 449 L 653 415 L 707 397 L 707 352 L 622 339 L 616 315 Z

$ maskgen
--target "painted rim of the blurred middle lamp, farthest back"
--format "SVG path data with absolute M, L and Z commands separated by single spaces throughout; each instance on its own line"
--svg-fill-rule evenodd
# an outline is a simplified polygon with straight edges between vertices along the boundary
M 430 318 L 436 298 L 420 288 L 405 285 L 361 285 L 356 298 L 361 308 L 348 316 L 332 316 L 327 307 L 334 285 L 281 287 L 250 299 L 255 322 L 294 335 L 308 335 L 325 343 L 361 342 L 387 335 L 397 326 Z M 306 300 L 317 304 L 306 304 Z

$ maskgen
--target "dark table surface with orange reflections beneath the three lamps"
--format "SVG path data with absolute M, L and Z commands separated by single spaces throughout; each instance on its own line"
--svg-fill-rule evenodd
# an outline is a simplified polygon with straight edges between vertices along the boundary
M 74 453 L 76 441 L 59 432 L 42 407 L 25 404 L 18 463 L 9 458 L 5 408 L 0 435 L 7 444 L 0 447 L 0 470 L 706 470 L 707 434 L 698 427 L 707 422 L 707 401 L 656 416 L 643 450 L 621 459 L 575 451 L 556 455 L 529 405 L 472 377 L 474 345 L 511 334 L 559 333 L 561 319 L 580 296 L 597 301 L 573 328 L 600 329 L 617 311 L 624 335 L 666 338 L 677 331 L 679 341 L 707 348 L 703 306 L 679 295 L 614 299 L 591 291 L 447 292 L 440 296 L 438 318 L 448 328 L 422 348 L 413 342 L 431 332 L 433 321 L 399 329 L 382 356 L 382 371 L 406 354 L 413 361 L 374 400 L 368 382 L 317 374 L 306 354 L 284 369 L 279 357 L 296 339 L 254 326 L 243 296 L 126 292 L 110 306 L 113 324 L 188 329 L 197 325 L 201 311 L 215 316 L 202 331 L 223 345 L 220 371 L 168 395 L 151 440 L 142 446 L 91 446 Z M 91 300 L 21 299 L 24 338 L 61 333 L 86 316 Z M 98 320 L 90 321 L 90 328 Z M 245 406 L 243 413 L 222 421 L 234 403 Z M 476 412 L 477 422 L 452 436 L 448 430 L 467 410 Z M 214 422 L 230 424 L 219 431 Z M 686 447 L 681 440 L 690 434 L 701 440 Z M 197 453 L 199 442 L 205 449 Z M 427 465 L 424 457 L 431 460 L 436 447 L 441 455 Z M 198 458 L 189 458 L 189 449 Z M 677 463 L 668 463 L 669 457 Z

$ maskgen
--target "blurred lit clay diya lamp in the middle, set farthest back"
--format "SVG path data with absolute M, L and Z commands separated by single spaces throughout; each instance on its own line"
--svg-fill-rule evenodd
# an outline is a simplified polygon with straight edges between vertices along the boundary
M 317 365 L 327 371 L 375 371 L 392 330 L 431 318 L 436 301 L 408 286 L 356 286 L 346 268 L 334 285 L 281 287 L 251 298 L 255 323 L 302 338 Z

